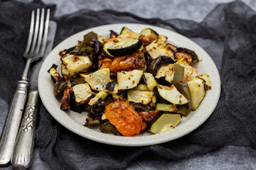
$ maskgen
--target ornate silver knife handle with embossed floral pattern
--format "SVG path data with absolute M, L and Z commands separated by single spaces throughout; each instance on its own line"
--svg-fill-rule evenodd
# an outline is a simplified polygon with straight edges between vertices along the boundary
M 27 169 L 32 162 L 38 99 L 38 91 L 29 92 L 26 111 L 11 157 L 11 164 L 16 169 Z

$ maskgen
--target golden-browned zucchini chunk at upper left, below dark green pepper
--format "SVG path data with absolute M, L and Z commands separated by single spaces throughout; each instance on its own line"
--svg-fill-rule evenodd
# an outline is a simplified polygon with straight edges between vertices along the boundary
M 67 57 L 63 57 L 61 60 L 63 61 L 63 64 L 66 65 L 70 76 L 92 66 L 92 61 L 88 56 L 68 55 Z

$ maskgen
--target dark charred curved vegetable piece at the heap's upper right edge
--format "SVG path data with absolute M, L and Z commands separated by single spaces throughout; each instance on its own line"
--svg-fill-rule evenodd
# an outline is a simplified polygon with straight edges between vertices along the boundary
M 177 47 L 175 53 L 175 59 L 181 60 L 184 58 L 189 64 L 192 62 L 198 62 L 198 55 L 193 50 L 188 50 L 186 48 Z

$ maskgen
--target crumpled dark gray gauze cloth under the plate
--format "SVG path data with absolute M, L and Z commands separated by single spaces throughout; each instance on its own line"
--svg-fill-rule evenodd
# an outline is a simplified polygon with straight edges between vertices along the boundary
M 40 1 L 0 3 L 2 106 L 10 103 L 14 84 L 24 67 L 21 54 L 28 35 L 26 20 L 30 15 L 27 11 L 44 5 Z M 13 8 L 18 14 L 11 10 Z M 137 159 L 157 164 L 162 160 L 170 162 L 204 154 L 224 145 L 256 147 L 256 16 L 255 11 L 241 1 L 218 5 L 201 23 L 145 19 L 131 13 L 88 9 L 55 18 L 55 21 L 58 24 L 55 45 L 80 30 L 110 23 L 144 23 L 174 30 L 208 52 L 220 72 L 222 89 L 218 106 L 201 127 L 178 140 L 148 147 L 117 147 L 87 140 L 57 123 L 42 105 L 36 145 L 41 148 L 41 159 L 51 169 L 125 169 Z M 1 118 L 6 110 L 1 112 Z

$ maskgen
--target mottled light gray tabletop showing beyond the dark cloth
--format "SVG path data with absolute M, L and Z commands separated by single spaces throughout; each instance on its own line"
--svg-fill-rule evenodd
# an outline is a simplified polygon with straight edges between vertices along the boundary
M 31 0 L 18 0 L 29 2 Z M 200 22 L 206 15 L 220 3 L 228 3 L 232 0 L 43 0 L 46 4 L 57 4 L 55 16 L 73 13 L 82 8 L 91 8 L 95 11 L 102 9 L 112 9 L 115 11 L 127 11 L 143 18 L 182 18 Z M 256 10 L 255 0 L 242 0 Z M 78 5 L 79 4 L 79 5 Z M 146 10 L 145 10 L 146 4 Z M 143 11 L 143 12 L 142 12 Z M 170 12 L 178 11 L 178 12 Z M 0 98 L 1 100 L 1 98 Z M 4 103 L 4 102 L 1 102 Z M 1 108 L 8 107 L 8 104 Z M 4 120 L 0 120 L 0 132 L 2 131 Z M 256 149 L 250 147 L 226 146 L 207 154 L 201 154 L 189 159 L 175 162 L 157 162 L 162 164 L 163 169 L 256 169 Z M 156 169 L 156 162 L 135 161 L 127 169 Z M 0 167 L 0 169 L 12 169 L 11 165 Z M 48 164 L 39 157 L 39 149 L 34 150 L 34 161 L 30 169 L 49 169 Z

